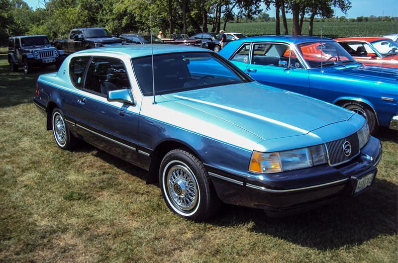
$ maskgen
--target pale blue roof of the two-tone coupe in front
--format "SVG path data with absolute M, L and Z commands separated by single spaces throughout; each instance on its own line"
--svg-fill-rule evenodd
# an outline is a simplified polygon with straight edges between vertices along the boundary
M 78 51 L 74 54 L 76 55 L 89 55 L 92 54 L 98 55 L 99 53 L 105 54 L 114 54 L 114 55 L 125 55 L 130 58 L 138 58 L 160 54 L 170 54 L 170 53 L 180 53 L 180 52 L 203 52 L 203 53 L 211 53 L 212 51 L 199 47 L 191 47 L 191 46 L 178 46 L 178 45 L 170 45 L 170 44 L 144 44 L 144 45 L 123 45 L 123 46 L 110 46 L 110 47 L 101 47 L 101 48 L 91 48 L 82 51 Z

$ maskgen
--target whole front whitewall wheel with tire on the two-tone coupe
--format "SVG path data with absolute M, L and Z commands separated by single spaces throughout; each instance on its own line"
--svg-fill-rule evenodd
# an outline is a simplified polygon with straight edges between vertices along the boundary
M 167 206 L 182 217 L 207 219 L 220 204 L 202 162 L 187 151 L 176 149 L 165 155 L 159 181 Z

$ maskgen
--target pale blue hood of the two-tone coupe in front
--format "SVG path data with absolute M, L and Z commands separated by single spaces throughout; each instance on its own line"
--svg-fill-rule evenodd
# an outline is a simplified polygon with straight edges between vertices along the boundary
M 317 129 L 344 122 L 354 114 L 317 99 L 256 82 L 202 88 L 162 97 L 163 106 L 184 111 L 187 121 L 191 116 L 204 116 L 211 125 L 233 125 L 257 136 L 259 141 L 304 134 L 317 137 Z

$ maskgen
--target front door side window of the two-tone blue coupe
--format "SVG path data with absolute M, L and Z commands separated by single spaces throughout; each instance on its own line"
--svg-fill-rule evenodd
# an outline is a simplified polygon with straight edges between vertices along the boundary
M 107 95 L 110 90 L 130 88 L 126 68 L 122 61 L 94 57 L 87 71 L 85 89 Z

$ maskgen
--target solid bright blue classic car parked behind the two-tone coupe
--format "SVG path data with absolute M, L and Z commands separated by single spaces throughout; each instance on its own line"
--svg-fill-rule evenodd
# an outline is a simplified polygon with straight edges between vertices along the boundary
M 398 129 L 398 70 L 357 63 L 333 39 L 249 37 L 228 43 L 219 54 L 262 84 L 357 112 L 371 134 L 379 126 Z

